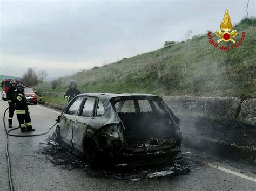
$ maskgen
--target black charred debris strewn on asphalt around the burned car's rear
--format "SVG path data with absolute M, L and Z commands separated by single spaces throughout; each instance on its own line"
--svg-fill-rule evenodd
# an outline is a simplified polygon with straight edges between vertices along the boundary
M 81 169 L 85 174 L 100 178 L 113 178 L 118 180 L 127 180 L 137 182 L 151 178 L 163 178 L 165 176 L 174 177 L 190 172 L 191 164 L 185 160 L 177 160 L 174 164 L 161 164 L 145 167 L 127 168 L 126 163 L 121 163 L 115 166 L 100 166 L 90 168 L 84 158 L 71 153 L 67 148 L 54 144 L 49 141 L 48 144 L 40 147 L 39 154 L 45 157 L 54 166 L 72 171 L 72 169 Z

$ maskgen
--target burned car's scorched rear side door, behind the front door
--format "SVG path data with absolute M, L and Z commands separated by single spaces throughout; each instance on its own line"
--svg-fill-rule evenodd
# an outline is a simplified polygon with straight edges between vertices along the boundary
M 72 144 L 75 150 L 83 152 L 83 140 L 86 136 L 86 130 L 95 107 L 95 97 L 85 96 L 85 100 L 82 103 L 79 114 L 76 116 L 73 123 L 73 138 Z

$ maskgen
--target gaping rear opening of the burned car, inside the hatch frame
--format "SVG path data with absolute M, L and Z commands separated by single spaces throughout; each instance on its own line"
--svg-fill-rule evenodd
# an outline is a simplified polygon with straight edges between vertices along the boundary
M 127 146 L 175 142 L 175 127 L 165 105 L 158 100 L 131 99 L 114 103 L 122 120 Z

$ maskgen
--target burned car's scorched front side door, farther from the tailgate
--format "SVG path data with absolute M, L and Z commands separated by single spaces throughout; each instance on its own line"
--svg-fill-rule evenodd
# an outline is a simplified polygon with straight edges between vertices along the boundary
M 73 147 L 73 125 L 75 125 L 77 121 L 78 111 L 83 100 L 84 97 L 76 97 L 71 101 L 65 109 L 64 114 L 60 117 L 60 137 L 64 143 L 71 147 Z

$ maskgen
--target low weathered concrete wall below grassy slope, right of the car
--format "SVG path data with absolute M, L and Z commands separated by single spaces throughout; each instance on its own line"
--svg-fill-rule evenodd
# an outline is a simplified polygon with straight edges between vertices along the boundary
M 241 102 L 235 97 L 163 96 L 177 116 L 235 121 L 256 127 L 256 99 Z

